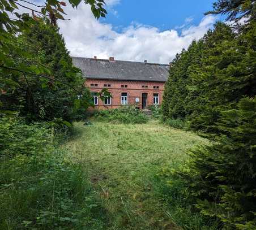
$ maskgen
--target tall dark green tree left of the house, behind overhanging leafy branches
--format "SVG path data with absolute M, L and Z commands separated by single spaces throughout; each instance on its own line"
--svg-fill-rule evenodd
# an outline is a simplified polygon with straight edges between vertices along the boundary
M 12 51 L 16 66 L 22 66 L 28 72 L 45 70 L 50 73 L 50 78 L 47 75 L 42 75 L 45 78 L 24 72 L 10 72 L 6 79 L 16 85 L 7 88 L 6 93 L 0 96 L 3 110 L 19 112 L 28 121 L 58 118 L 72 121 L 78 92 L 83 95 L 83 106 L 89 106 L 89 92 L 83 87 L 82 74 L 79 69 L 72 67 L 58 27 L 50 24 L 48 19 L 38 19 L 29 31 L 24 31 L 9 42 L 29 54 L 24 57 Z

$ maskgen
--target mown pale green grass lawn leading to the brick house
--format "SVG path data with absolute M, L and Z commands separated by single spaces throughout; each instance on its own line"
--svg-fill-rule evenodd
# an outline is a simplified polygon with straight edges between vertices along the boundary
M 206 143 L 194 133 L 147 124 L 75 124 L 66 147 L 83 164 L 108 219 L 106 229 L 180 229 L 155 197 L 154 176 L 176 167 L 186 150 Z

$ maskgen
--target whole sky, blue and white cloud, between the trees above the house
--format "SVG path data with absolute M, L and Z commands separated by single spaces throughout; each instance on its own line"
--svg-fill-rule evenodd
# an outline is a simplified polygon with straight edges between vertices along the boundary
M 218 20 L 203 15 L 212 2 L 106 0 L 108 15 L 100 20 L 80 3 L 78 9 L 65 7 L 71 20 L 58 25 L 72 56 L 169 63 Z

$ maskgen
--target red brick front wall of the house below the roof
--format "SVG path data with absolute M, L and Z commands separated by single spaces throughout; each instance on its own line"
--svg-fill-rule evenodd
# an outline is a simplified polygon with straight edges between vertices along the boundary
M 97 86 L 91 86 L 97 84 Z M 111 85 L 104 87 L 104 84 Z M 112 94 L 111 105 L 104 105 L 104 102 L 99 99 L 99 105 L 95 106 L 96 109 L 115 109 L 121 106 L 121 93 L 128 93 L 128 105 L 135 105 L 142 109 L 142 93 L 147 93 L 147 106 L 153 105 L 153 94 L 159 94 L 159 105 L 163 101 L 164 92 L 163 82 L 152 81 L 121 81 L 121 80 L 98 80 L 87 79 L 85 85 L 91 92 L 100 92 L 103 88 L 108 88 Z M 127 88 L 122 88 L 121 85 L 127 85 Z M 148 88 L 142 88 L 142 86 Z M 154 89 L 153 86 L 159 86 L 159 89 Z M 139 98 L 139 103 L 135 102 L 135 98 Z

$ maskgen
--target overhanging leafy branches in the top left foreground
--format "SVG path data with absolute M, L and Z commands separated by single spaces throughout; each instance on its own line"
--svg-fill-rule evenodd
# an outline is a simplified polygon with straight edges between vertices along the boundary
M 69 4 L 74 8 L 80 2 L 82 1 L 69 0 Z M 85 0 L 84 3 L 91 6 L 92 13 L 96 18 L 105 17 L 104 0 Z M 29 54 L 24 49 L 15 46 L 15 44 L 11 44 L 10 41 L 15 40 L 17 33 L 29 31 L 31 25 L 40 20 L 39 16 L 47 16 L 53 25 L 57 25 L 58 19 L 66 20 L 63 17 L 63 15 L 66 15 L 63 7 L 66 5 L 66 2 L 57 0 L 46 0 L 44 5 L 37 5 L 37 3 L 24 0 L 0 0 L 0 89 L 2 91 L 16 86 L 15 81 L 8 80 L 7 76 L 11 72 L 26 72 L 31 75 L 36 74 L 38 77 L 47 75 L 50 78 L 50 71 L 47 68 L 41 68 L 40 64 L 34 65 L 33 68 L 28 68 L 23 63 L 15 62 L 16 56 L 14 58 L 10 54 L 14 53 L 22 58 L 26 58 Z M 19 14 L 19 8 L 31 10 L 32 15 Z M 13 18 L 10 16 L 11 14 Z M 53 77 L 51 79 L 54 81 Z

